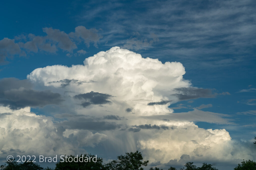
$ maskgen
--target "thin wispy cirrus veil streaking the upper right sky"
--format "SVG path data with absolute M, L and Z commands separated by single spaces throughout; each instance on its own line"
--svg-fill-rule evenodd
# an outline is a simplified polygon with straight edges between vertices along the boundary
M 189 67 L 199 65 L 197 69 L 232 67 L 255 58 L 252 0 L 101 3 L 104 8 L 87 6 L 81 15 L 102 18 L 101 42 L 108 47 L 122 46 L 161 59 L 171 56 Z M 106 12 L 106 7 L 111 10 Z M 79 16 L 86 22 L 84 18 Z

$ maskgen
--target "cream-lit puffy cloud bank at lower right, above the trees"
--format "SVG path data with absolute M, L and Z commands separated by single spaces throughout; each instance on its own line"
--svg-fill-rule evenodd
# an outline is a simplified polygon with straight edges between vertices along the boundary
M 251 159 L 248 155 L 250 149 L 242 146 L 238 149 L 225 129 L 206 130 L 193 123 L 155 133 L 150 139 L 140 140 L 139 146 L 146 155 L 154 155 L 147 157 L 150 162 L 179 160 L 182 154 L 189 155 L 190 160 L 187 161 L 193 162 L 237 161 L 241 157 Z

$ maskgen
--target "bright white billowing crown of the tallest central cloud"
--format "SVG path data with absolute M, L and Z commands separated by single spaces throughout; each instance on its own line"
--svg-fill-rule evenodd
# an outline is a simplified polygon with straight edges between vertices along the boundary
M 75 91 L 77 95 L 90 91 L 108 94 L 113 96 L 113 105 L 123 106 L 119 112 L 133 108 L 136 114 L 152 115 L 173 112 L 166 107 L 169 102 L 148 103 L 177 99 L 171 96 L 172 89 L 190 85 L 183 80 L 184 74 L 185 69 L 179 62 L 163 64 L 158 59 L 142 58 L 140 54 L 113 47 L 85 59 L 84 65 L 47 66 L 31 72 L 28 79 L 54 87 L 63 86 L 63 80 L 84 82 L 70 84 L 65 90 Z M 110 111 L 114 111 L 113 107 Z

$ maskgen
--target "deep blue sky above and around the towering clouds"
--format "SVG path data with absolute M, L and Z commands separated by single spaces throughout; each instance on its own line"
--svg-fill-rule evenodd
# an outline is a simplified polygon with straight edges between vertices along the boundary
M 24 80 L 37 68 L 83 64 L 86 58 L 114 46 L 162 63 L 177 61 L 185 68 L 183 79 L 191 83 L 189 87 L 206 89 L 210 94 L 195 92 L 198 97 L 179 98 L 168 108 L 180 114 L 195 108 L 223 114 L 226 123 L 200 121 L 193 116 L 188 121 L 199 128 L 226 129 L 233 141 L 251 146 L 256 135 L 255 5 L 251 0 L 2 2 L 0 79 Z M 41 42 L 33 41 L 35 37 Z M 31 43 L 25 45 L 27 42 Z M 34 90 L 60 93 L 56 87 L 33 83 Z M 28 106 L 31 112 L 52 116 L 61 124 L 63 120 L 55 114 L 63 110 L 58 110 L 59 100 L 53 102 Z M 106 153 L 99 154 L 108 157 Z M 108 159 L 118 154 L 123 152 L 113 151 Z M 251 159 L 255 160 L 255 155 Z

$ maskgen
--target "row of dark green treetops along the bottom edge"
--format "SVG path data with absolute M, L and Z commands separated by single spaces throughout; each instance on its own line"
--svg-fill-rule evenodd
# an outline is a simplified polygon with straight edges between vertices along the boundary
M 255 137 L 256 138 L 256 137 Z M 94 157 L 91 154 L 80 155 L 85 157 Z M 70 155 L 68 157 L 75 158 Z M 148 161 L 143 161 L 141 152 L 128 152 L 125 155 L 117 156 L 116 160 L 103 164 L 103 159 L 97 157 L 97 162 L 58 162 L 55 168 L 42 168 L 40 165 L 34 162 L 17 163 L 6 162 L 6 164 L 0 166 L 0 170 L 143 170 L 142 166 L 147 166 Z M 163 170 L 160 168 L 151 167 L 150 170 Z M 175 167 L 170 167 L 167 170 L 177 170 Z M 212 167 L 211 164 L 203 163 L 201 167 L 196 167 L 193 162 L 187 162 L 180 170 L 218 170 Z M 242 161 L 238 164 L 234 170 L 256 170 L 256 162 L 252 160 Z

